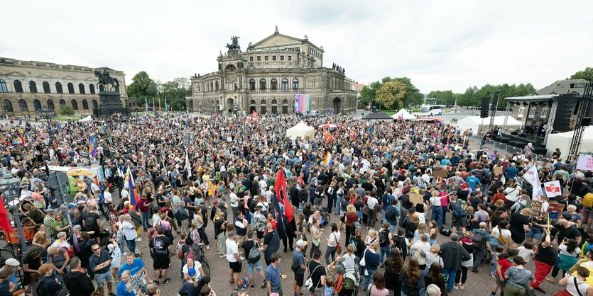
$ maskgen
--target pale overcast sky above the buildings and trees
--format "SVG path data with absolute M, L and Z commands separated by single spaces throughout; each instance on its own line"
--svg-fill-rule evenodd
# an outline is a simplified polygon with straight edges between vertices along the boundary
M 103 2 L 105 4 L 103 4 Z M 569 4 L 570 3 L 570 4 Z M 593 67 L 593 1 L 8 1 L 0 57 L 144 70 L 168 81 L 217 70 L 280 33 L 325 49 L 324 65 L 368 84 L 408 76 L 423 93 L 531 82 Z

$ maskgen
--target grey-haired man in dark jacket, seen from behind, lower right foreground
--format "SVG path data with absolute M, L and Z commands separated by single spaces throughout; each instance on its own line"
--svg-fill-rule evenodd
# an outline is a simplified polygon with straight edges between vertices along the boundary
M 462 261 L 467 261 L 472 258 L 469 253 L 457 242 L 459 235 L 452 233 L 451 241 L 447 241 L 440 246 L 440 256 L 443 261 L 443 272 L 447 275 L 447 291 L 453 290 L 455 283 L 455 275 L 457 271 L 461 270 Z

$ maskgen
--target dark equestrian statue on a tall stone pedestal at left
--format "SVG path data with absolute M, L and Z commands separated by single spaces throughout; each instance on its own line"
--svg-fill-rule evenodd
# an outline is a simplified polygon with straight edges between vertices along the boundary
M 100 118 L 109 118 L 115 113 L 129 116 L 129 108 L 121 104 L 119 81 L 109 76 L 109 72 L 105 68 L 102 72 L 94 70 L 94 76 L 99 77 L 99 89 L 104 90 L 99 91 L 99 106 L 96 110 L 93 108 L 93 114 Z

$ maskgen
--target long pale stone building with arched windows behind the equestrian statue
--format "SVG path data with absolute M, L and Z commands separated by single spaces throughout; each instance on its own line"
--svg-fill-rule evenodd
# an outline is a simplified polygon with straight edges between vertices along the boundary
M 97 68 L 102 72 L 104 68 Z M 119 80 L 121 102 L 127 101 L 124 72 L 105 68 Z M 69 104 L 75 113 L 92 114 L 99 103 L 95 68 L 54 64 L 50 62 L 21 61 L 0 57 L 0 101 L 2 117 L 36 116 L 43 108 L 55 109 Z

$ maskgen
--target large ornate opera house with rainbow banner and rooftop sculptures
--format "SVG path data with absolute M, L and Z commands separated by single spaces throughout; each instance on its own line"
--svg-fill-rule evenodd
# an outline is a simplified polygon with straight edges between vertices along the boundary
M 305 38 L 278 33 L 249 43 L 242 52 L 239 38 L 217 58 L 218 71 L 192 76 L 190 112 L 249 114 L 293 113 L 296 95 L 309 95 L 309 110 L 351 113 L 357 108 L 352 79 L 335 64 L 323 67 L 323 47 Z

